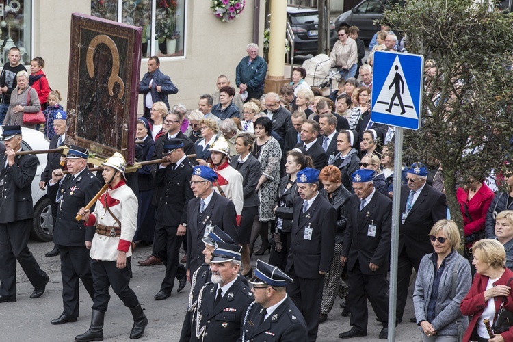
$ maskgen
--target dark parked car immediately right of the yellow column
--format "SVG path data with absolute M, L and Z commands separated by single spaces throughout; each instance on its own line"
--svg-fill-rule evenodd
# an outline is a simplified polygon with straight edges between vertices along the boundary
M 294 55 L 317 55 L 319 12 L 315 8 L 288 5 L 287 21 L 294 33 Z M 337 39 L 335 25 L 330 21 L 330 48 L 337 42 Z

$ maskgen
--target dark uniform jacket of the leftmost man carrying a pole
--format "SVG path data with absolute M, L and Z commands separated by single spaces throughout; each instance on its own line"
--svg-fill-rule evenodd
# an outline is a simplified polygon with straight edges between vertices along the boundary
M 0 157 L 0 223 L 34 218 L 31 187 L 38 159 L 34 155 L 17 155 L 12 166 L 6 161 L 4 154 Z

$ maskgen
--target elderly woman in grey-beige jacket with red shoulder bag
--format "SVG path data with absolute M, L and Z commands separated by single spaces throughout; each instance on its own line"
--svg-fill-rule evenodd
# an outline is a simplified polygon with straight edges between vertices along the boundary
M 16 74 L 18 86 L 12 90 L 11 101 L 3 124 L 19 124 L 21 127 L 36 129 L 36 124 L 23 123 L 23 113 L 38 114 L 41 109 L 38 92 L 29 86 L 29 73 L 20 71 Z

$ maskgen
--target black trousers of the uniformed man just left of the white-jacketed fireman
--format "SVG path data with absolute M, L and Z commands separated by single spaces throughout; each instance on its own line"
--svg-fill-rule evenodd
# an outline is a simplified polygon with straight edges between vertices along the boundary
M 94 299 L 89 250 L 85 245 L 83 247 L 57 245 L 57 249 L 61 253 L 64 313 L 70 317 L 77 318 L 79 317 L 80 307 L 79 279 L 82 280 L 83 287 L 86 288 L 91 299 Z

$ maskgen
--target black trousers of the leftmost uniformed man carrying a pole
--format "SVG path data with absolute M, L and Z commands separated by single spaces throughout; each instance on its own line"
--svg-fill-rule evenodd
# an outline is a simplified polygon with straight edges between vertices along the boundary
M 47 274 L 27 247 L 31 225 L 31 218 L 0 224 L 0 295 L 4 297 L 16 298 L 16 261 L 34 288 L 40 289 L 48 282 Z

